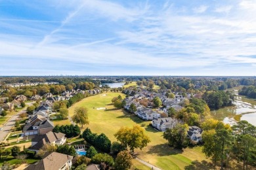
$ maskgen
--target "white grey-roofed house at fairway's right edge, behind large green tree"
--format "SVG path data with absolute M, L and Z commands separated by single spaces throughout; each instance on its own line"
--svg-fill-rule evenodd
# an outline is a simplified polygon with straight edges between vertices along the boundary
M 175 118 L 155 118 L 152 120 L 152 126 L 159 131 L 166 131 L 166 129 L 171 129 L 178 123 L 179 121 Z

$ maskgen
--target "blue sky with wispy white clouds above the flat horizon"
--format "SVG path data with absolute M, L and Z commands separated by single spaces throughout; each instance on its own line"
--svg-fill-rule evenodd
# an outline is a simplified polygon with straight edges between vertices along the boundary
M 0 0 L 0 75 L 255 76 L 255 0 Z

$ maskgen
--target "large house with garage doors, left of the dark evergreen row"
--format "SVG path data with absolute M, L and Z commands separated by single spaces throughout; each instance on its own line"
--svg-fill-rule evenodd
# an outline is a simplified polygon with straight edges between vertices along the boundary
M 23 133 L 24 135 L 44 135 L 49 131 L 53 131 L 53 127 L 53 122 L 48 119 L 44 120 L 43 122 L 41 122 L 40 120 L 37 122 L 33 121 L 33 123 L 26 124 L 24 126 Z

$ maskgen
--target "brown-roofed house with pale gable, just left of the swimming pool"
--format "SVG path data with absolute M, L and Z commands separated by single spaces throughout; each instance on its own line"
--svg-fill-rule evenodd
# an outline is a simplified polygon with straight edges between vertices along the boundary
M 35 135 L 32 139 L 32 146 L 28 150 L 38 152 L 45 144 L 60 146 L 64 143 L 66 143 L 64 133 L 49 131 L 45 135 Z

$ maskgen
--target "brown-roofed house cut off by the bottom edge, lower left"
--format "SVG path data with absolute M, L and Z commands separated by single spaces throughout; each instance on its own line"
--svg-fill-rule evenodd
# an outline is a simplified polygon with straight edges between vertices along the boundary
M 52 152 L 43 160 L 30 164 L 25 170 L 67 170 L 72 167 L 73 156 Z

